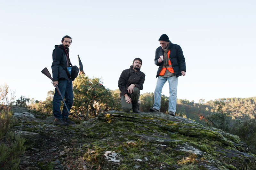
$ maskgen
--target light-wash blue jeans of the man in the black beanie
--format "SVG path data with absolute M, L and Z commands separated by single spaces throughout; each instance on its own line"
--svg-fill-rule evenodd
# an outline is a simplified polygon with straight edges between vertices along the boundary
M 177 87 L 178 87 L 178 77 L 172 76 L 172 77 L 162 77 L 158 76 L 157 82 L 156 82 L 156 89 L 154 92 L 154 99 L 155 103 L 153 105 L 154 108 L 157 110 L 160 110 L 161 106 L 161 92 L 164 86 L 164 83 L 168 81 L 169 82 L 169 107 L 168 112 L 176 112 L 176 103 L 177 103 Z

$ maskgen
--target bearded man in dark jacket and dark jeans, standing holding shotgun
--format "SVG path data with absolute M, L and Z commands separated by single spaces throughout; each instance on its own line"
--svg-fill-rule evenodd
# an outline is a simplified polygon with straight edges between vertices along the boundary
M 72 38 L 68 35 L 64 36 L 60 45 L 55 45 L 52 51 L 52 78 L 53 86 L 58 85 L 60 93 L 65 96 L 66 107 L 63 107 L 60 111 L 60 102 L 62 100 L 61 95 L 55 88 L 55 94 L 52 101 L 52 110 L 55 117 L 53 124 L 60 126 L 68 126 L 69 124 L 75 124 L 74 121 L 68 119 L 68 113 L 73 104 L 73 85 L 72 80 L 68 76 L 68 67 L 70 67 L 69 59 L 69 46 L 72 43 Z M 71 65 L 72 66 L 72 65 Z

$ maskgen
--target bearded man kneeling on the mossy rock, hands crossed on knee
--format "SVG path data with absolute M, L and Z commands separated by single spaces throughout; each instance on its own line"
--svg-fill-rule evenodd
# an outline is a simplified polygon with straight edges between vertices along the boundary
M 130 112 L 131 109 L 135 113 L 139 113 L 138 100 L 140 90 L 143 89 L 145 74 L 140 71 L 142 60 L 135 58 L 132 66 L 124 70 L 118 80 L 118 88 L 121 91 L 121 104 L 124 112 Z

